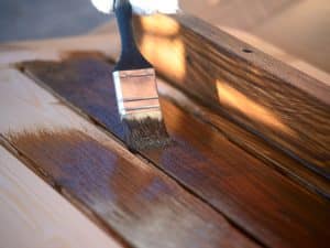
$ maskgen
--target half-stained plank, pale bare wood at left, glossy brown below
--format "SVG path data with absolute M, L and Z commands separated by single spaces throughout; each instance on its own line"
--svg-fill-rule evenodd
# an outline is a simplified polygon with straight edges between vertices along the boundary
M 110 75 L 108 67 L 81 66 L 92 77 Z M 16 69 L 0 69 L 0 94 L 4 144 L 92 220 L 134 247 L 258 247 Z

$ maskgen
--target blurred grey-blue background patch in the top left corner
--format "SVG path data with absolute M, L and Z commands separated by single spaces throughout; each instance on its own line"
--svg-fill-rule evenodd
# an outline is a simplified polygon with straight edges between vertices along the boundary
M 0 0 L 0 42 L 81 34 L 109 19 L 89 0 Z

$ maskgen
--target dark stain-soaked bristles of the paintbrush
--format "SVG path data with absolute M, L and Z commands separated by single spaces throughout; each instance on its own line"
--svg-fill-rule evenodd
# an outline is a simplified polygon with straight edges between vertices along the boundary
M 146 116 L 145 118 L 122 119 L 124 139 L 130 150 L 150 150 L 164 148 L 170 143 L 162 118 Z

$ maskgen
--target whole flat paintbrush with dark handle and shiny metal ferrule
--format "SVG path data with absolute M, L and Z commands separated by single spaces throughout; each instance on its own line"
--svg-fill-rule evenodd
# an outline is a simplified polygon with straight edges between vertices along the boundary
M 131 150 L 164 147 L 169 137 L 161 111 L 155 69 L 135 44 L 130 2 L 117 0 L 114 13 L 122 48 L 112 76 L 124 140 Z

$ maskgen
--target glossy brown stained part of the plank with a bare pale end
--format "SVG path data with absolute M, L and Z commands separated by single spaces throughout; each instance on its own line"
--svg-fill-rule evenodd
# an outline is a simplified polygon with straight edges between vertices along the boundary
M 128 244 L 257 247 L 154 168 L 80 131 L 21 133 L 10 140 L 57 190 L 94 212 Z

